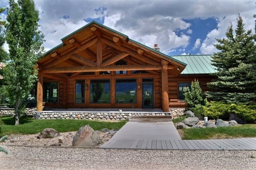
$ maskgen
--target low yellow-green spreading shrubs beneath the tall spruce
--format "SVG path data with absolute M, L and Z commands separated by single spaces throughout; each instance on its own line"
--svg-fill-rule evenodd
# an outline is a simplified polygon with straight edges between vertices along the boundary
M 236 114 L 247 123 L 256 121 L 256 105 L 248 104 L 225 104 L 221 102 L 211 102 L 209 107 L 203 107 L 204 115 L 213 119 L 228 119 L 231 114 Z

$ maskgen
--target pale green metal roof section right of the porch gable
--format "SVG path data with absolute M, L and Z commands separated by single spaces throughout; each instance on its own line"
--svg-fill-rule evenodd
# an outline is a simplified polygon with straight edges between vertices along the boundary
M 211 55 L 177 55 L 171 57 L 188 64 L 181 74 L 209 74 L 216 72 L 216 67 L 211 65 Z

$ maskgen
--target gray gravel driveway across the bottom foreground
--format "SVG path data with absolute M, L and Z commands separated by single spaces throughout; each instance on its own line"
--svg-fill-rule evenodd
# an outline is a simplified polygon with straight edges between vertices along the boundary
M 2 147 L 1 170 L 256 170 L 256 151 Z

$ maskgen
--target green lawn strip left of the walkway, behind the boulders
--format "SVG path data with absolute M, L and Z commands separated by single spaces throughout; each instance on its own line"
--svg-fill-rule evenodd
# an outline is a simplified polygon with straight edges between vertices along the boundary
M 20 125 L 15 126 L 13 117 L 0 118 L 0 136 L 10 134 L 36 134 L 45 128 L 53 128 L 59 132 L 78 131 L 82 126 L 89 125 L 94 131 L 101 131 L 103 128 L 120 129 L 127 121 L 92 121 L 92 120 L 40 120 L 33 118 L 20 118 Z

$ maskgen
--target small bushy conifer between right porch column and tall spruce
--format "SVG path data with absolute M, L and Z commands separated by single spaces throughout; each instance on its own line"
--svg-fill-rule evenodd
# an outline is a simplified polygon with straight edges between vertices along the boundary
M 196 117 L 202 117 L 202 105 L 205 105 L 205 100 L 198 80 L 192 81 L 191 89 L 184 90 L 184 96 L 188 110 L 193 111 Z

